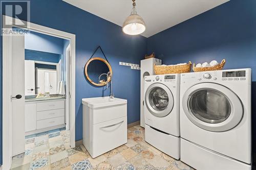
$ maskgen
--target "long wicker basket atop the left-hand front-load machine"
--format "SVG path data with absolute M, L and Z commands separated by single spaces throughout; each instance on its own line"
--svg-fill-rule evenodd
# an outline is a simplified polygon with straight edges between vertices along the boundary
M 190 72 L 191 62 L 185 65 L 154 65 L 156 75 L 165 75 L 165 74 L 181 74 L 185 72 Z

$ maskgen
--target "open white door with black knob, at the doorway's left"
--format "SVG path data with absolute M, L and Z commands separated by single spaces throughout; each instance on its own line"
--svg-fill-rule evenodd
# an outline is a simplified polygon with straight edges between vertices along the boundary
M 25 40 L 12 37 L 12 156 L 25 152 Z M 15 98 L 16 96 L 16 98 Z M 21 96 L 21 98 L 20 98 Z

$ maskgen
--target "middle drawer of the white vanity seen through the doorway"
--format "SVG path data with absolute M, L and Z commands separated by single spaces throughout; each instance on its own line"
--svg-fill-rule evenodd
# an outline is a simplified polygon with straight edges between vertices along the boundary
M 37 115 L 36 116 L 37 120 L 65 116 L 65 109 L 40 111 L 40 112 L 37 112 L 36 115 Z

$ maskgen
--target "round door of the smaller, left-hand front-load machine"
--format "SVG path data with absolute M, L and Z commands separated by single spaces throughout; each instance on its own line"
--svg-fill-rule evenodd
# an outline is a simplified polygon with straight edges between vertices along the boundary
M 157 117 L 164 117 L 173 110 L 174 97 L 167 86 L 155 83 L 147 88 L 145 103 L 151 114 Z

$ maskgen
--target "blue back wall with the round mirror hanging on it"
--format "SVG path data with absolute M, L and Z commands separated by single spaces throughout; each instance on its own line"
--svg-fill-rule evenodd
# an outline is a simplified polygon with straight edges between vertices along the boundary
M 31 22 L 76 34 L 76 140 L 82 139 L 81 99 L 110 94 L 109 89 L 104 90 L 105 88 L 102 87 L 94 87 L 84 77 L 84 65 L 98 45 L 101 45 L 113 68 L 113 91 L 115 96 L 127 99 L 128 123 L 139 120 L 140 71 L 120 66 L 119 61 L 139 63 L 146 54 L 146 38 L 125 35 L 122 33 L 121 27 L 114 23 L 61 0 L 33 0 L 30 5 Z M 21 19 L 26 20 L 26 18 Z M 0 46 L 2 59 L 2 38 Z M 0 86 L 2 89 L 2 83 Z M 2 96 L 2 92 L 0 96 Z

